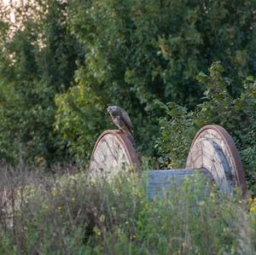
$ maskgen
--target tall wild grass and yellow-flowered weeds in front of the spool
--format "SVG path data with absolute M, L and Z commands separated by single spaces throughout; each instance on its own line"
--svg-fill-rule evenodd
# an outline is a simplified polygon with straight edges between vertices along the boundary
M 254 202 L 200 176 L 150 201 L 137 173 L 0 168 L 0 254 L 255 254 Z

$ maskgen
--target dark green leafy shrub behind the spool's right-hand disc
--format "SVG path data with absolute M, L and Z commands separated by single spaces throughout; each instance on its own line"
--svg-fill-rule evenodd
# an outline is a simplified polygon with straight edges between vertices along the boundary
M 230 132 L 240 151 L 248 188 L 256 193 L 256 81 L 248 77 L 242 84 L 240 96 L 231 96 L 230 78 L 224 77 L 219 62 L 201 72 L 198 80 L 206 84 L 204 102 L 188 111 L 171 102 L 160 103 L 166 117 L 160 119 L 161 136 L 157 142 L 162 165 L 181 167 L 189 153 L 195 133 L 204 125 L 222 125 Z

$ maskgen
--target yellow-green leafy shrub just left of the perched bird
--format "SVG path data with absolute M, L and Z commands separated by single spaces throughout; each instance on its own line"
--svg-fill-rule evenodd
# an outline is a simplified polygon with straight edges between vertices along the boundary
M 60 148 L 67 147 L 75 161 L 86 162 L 97 136 L 108 126 L 107 108 L 83 84 L 73 86 L 66 94 L 55 96 L 55 103 L 58 107 L 55 130 L 63 137 L 58 145 Z

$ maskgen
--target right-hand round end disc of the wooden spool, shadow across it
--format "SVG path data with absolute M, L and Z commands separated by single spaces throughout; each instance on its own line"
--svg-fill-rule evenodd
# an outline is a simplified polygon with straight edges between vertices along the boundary
M 219 125 L 207 125 L 196 134 L 186 168 L 205 168 L 221 190 L 239 186 L 246 192 L 241 160 L 229 133 Z

